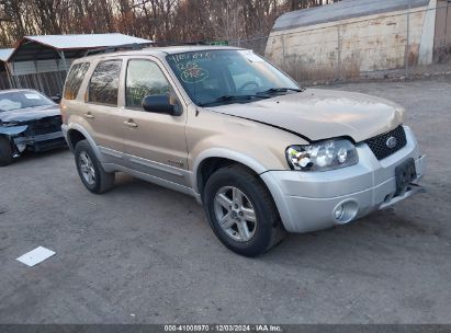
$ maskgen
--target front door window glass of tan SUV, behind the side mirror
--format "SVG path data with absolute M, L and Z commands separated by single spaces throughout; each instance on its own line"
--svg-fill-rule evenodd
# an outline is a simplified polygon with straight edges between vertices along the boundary
M 125 82 L 126 106 L 142 108 L 143 99 L 169 95 L 169 82 L 157 64 L 150 60 L 129 60 Z

